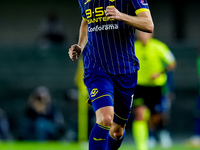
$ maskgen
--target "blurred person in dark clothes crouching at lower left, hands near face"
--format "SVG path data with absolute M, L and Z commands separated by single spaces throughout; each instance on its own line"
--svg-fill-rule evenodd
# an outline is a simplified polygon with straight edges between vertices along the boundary
M 62 113 L 55 110 L 46 87 L 37 87 L 29 97 L 23 124 L 25 140 L 58 140 L 65 131 Z

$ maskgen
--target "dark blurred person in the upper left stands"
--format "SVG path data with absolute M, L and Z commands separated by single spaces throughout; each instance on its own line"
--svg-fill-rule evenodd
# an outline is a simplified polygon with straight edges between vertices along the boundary
M 43 49 L 63 44 L 65 40 L 63 25 L 55 12 L 49 12 L 40 24 L 39 46 Z

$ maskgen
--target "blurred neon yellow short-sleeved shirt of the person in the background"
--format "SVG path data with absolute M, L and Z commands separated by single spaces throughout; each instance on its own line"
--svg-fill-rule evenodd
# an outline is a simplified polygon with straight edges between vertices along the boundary
M 163 86 L 167 81 L 167 75 L 161 74 L 152 80 L 154 73 L 161 73 L 167 65 L 175 62 L 174 55 L 166 44 L 150 39 L 147 45 L 143 46 L 140 41 L 135 42 L 136 56 L 140 62 L 138 71 L 138 85 L 142 86 Z

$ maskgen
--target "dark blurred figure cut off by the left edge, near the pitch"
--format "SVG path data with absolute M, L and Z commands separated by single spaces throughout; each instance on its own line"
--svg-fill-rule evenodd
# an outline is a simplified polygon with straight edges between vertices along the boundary
M 0 141 L 11 139 L 9 121 L 6 113 L 0 109 Z

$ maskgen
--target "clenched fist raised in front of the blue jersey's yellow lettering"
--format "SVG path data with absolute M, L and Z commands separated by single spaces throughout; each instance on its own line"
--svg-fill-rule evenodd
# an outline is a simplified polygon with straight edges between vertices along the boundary
M 109 16 L 110 19 L 120 21 L 122 18 L 122 13 L 119 12 L 114 6 L 108 6 L 106 7 L 106 16 Z

